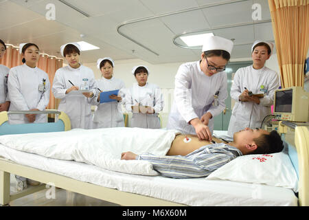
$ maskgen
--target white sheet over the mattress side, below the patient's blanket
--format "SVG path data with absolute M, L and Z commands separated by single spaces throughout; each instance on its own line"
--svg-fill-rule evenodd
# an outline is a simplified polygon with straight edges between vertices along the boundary
M 170 179 L 117 173 L 80 162 L 16 151 L 2 144 L 0 156 L 80 181 L 189 206 L 297 206 L 297 197 L 287 188 L 205 178 Z

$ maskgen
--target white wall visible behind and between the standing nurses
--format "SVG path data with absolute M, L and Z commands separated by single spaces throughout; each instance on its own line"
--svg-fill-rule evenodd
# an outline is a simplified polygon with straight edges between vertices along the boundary
M 251 58 L 237 58 L 231 59 L 231 62 L 236 61 L 251 61 Z M 122 60 L 122 61 L 115 61 L 115 68 L 114 68 L 114 77 L 121 78 L 124 80 L 126 87 L 131 87 L 133 83 L 136 82 L 135 77 L 131 73 L 131 70 L 136 65 L 146 65 L 149 68 L 149 83 L 155 83 L 159 85 L 162 89 L 162 93 L 165 100 L 165 107 L 161 112 L 162 118 L 162 127 L 165 127 L 168 121 L 168 113 L 170 112 L 170 108 L 172 107 L 172 102 L 174 100 L 174 77 L 176 72 L 179 68 L 179 65 L 182 63 L 165 63 L 165 64 L 158 64 L 152 65 L 141 59 L 130 59 L 130 60 Z M 96 63 L 83 63 L 83 65 L 90 67 L 94 74 L 95 78 L 101 78 L 101 72 L 96 67 Z M 266 67 L 269 67 L 275 70 L 279 74 L 279 67 L 277 64 L 277 54 L 273 54 L 268 61 L 266 61 Z M 130 118 L 128 120 L 130 125 Z

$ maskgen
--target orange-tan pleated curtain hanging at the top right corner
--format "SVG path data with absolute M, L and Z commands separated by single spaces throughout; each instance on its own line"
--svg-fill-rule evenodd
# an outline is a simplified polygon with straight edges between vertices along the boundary
M 304 87 L 309 0 L 268 0 L 282 87 Z

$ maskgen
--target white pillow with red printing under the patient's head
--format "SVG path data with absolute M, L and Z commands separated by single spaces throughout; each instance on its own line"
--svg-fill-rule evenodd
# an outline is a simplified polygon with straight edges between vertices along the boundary
M 206 179 L 228 179 L 253 184 L 282 186 L 298 192 L 298 178 L 290 158 L 284 152 L 236 157 Z

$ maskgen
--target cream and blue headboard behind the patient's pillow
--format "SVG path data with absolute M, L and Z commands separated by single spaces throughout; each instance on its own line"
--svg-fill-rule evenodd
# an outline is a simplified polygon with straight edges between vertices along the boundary
M 279 122 L 279 133 L 288 144 L 288 155 L 299 177 L 299 206 L 309 206 L 309 126 Z

